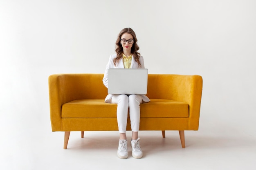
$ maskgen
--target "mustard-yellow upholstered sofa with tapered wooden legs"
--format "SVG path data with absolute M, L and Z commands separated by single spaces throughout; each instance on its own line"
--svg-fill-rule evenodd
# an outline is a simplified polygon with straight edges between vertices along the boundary
M 103 74 L 55 74 L 49 76 L 52 131 L 64 131 L 64 149 L 70 131 L 118 130 L 117 105 L 104 103 L 107 88 Z M 151 102 L 140 105 L 140 130 L 178 130 L 185 148 L 184 130 L 198 130 L 202 96 L 200 75 L 149 74 Z M 128 117 L 127 130 L 130 130 Z

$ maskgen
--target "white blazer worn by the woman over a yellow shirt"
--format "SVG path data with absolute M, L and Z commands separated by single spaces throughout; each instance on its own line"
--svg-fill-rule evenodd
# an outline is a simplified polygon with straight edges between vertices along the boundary
M 113 62 L 114 58 L 117 57 L 117 54 L 113 54 L 110 55 L 109 60 L 108 60 L 108 64 L 106 66 L 106 70 L 104 73 L 104 77 L 103 77 L 103 84 L 108 88 L 108 69 L 109 68 L 124 68 L 124 62 L 123 60 L 119 60 L 116 63 L 116 66 Z M 139 67 L 139 64 L 137 62 L 135 62 L 134 57 L 132 56 L 132 63 L 131 63 L 131 68 L 145 68 L 144 66 L 144 59 L 142 56 L 139 57 L 139 62 L 141 64 L 141 67 Z M 113 97 L 112 94 L 108 94 L 107 97 L 105 98 L 105 103 L 110 103 L 111 98 Z M 143 102 L 150 102 L 150 99 L 146 96 L 146 95 L 141 95 Z

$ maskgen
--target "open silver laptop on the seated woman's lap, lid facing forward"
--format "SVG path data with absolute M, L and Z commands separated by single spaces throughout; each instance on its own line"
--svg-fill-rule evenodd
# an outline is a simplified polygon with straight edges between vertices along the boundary
M 146 95 L 147 90 L 147 68 L 108 69 L 108 94 Z

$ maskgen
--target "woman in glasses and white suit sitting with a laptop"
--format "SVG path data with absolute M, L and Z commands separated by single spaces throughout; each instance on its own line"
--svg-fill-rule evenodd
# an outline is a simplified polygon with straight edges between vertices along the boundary
M 108 69 L 109 68 L 145 68 L 143 57 L 137 52 L 137 38 L 131 28 L 123 29 L 116 41 L 116 54 L 110 55 L 106 71 L 103 77 L 103 84 L 108 88 Z M 128 87 L 127 87 L 128 88 Z M 128 158 L 126 125 L 128 108 L 130 108 L 130 122 L 132 129 L 132 157 L 141 158 L 143 152 L 139 146 L 139 119 L 140 107 L 143 102 L 150 102 L 145 95 L 112 95 L 108 94 L 106 103 L 117 104 L 117 124 L 119 130 L 119 146 L 117 156 L 121 159 Z

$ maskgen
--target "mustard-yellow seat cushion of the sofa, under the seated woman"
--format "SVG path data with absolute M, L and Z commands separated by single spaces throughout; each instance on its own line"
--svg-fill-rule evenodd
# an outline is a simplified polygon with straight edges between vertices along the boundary
M 140 105 L 141 118 L 189 117 L 189 105 L 168 99 L 150 99 Z M 104 99 L 81 99 L 63 104 L 62 118 L 116 118 L 117 104 Z

